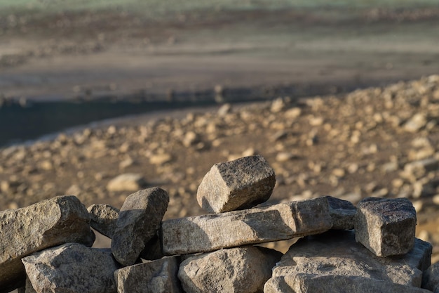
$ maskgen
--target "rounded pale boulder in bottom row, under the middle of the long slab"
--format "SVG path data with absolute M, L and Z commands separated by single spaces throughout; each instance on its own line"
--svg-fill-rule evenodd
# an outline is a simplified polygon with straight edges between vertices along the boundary
M 184 292 L 262 292 L 281 252 L 265 247 L 236 247 L 191 256 L 180 265 Z

